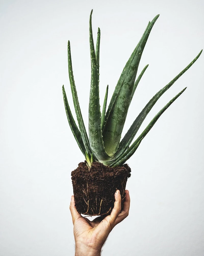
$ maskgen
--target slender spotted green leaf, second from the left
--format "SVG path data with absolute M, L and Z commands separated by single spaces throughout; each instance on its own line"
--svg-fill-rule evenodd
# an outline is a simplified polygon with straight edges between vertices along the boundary
M 81 133 L 81 136 L 82 136 L 84 147 L 85 147 L 86 151 L 91 155 L 91 148 L 90 148 L 90 145 L 89 145 L 88 136 L 87 136 L 86 129 L 85 129 L 85 126 L 84 126 L 84 121 L 83 121 L 83 118 L 82 118 L 81 109 L 80 109 L 80 106 L 79 106 L 79 101 L 78 101 L 78 96 L 77 96 L 77 90 L 76 90 L 76 86 L 75 86 L 75 82 L 74 82 L 74 76 L 73 76 L 73 71 L 72 71 L 72 61 L 71 61 L 70 42 L 69 41 L 68 41 L 68 69 L 69 69 L 69 81 L 70 81 L 70 85 L 71 85 L 71 92 L 72 92 L 72 98 L 73 98 L 73 103 L 74 103 L 74 109 L 75 109 L 75 112 L 76 112 L 80 133 Z

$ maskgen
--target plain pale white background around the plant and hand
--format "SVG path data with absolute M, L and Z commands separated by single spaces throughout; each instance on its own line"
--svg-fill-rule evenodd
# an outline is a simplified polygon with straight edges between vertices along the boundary
M 71 171 L 84 157 L 71 133 L 62 85 L 74 114 L 67 42 L 87 127 L 90 88 L 89 15 L 100 44 L 101 105 L 109 97 L 149 20 L 156 21 L 142 55 L 145 71 L 124 132 L 149 99 L 200 52 L 203 1 L 1 1 L 0 255 L 74 255 L 69 212 Z M 129 216 L 102 255 L 204 255 L 204 54 L 158 100 L 138 135 L 178 92 L 127 161 Z

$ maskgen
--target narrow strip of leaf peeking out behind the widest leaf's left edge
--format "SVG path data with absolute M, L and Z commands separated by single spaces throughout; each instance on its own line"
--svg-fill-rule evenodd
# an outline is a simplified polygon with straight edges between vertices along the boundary
M 146 27 L 146 29 L 145 29 L 145 32 L 144 32 L 142 38 L 144 37 L 144 35 L 145 35 L 145 33 L 146 33 L 146 31 L 147 31 L 149 25 L 150 25 L 150 22 L 148 23 L 148 25 L 147 25 L 147 27 Z M 109 114 L 110 114 L 110 110 L 112 109 L 113 103 L 114 103 L 114 101 L 116 100 L 116 96 L 118 95 L 118 92 L 119 92 L 120 87 L 121 87 L 121 85 L 122 85 L 122 82 L 123 82 L 123 80 L 124 80 L 124 77 L 125 77 L 125 74 L 126 74 L 126 72 L 127 72 L 127 69 L 128 69 L 128 67 L 129 67 L 129 65 L 130 65 L 130 63 L 131 63 L 131 61 L 132 61 L 132 58 L 133 58 L 133 56 L 134 56 L 134 54 L 135 54 L 135 51 L 137 50 L 137 48 L 138 48 L 138 46 L 139 46 L 139 44 L 140 44 L 142 38 L 140 39 L 138 45 L 135 47 L 133 53 L 131 54 L 129 60 L 127 61 L 126 65 L 125 65 L 125 67 L 124 67 L 124 69 L 123 69 L 123 71 L 122 71 L 122 73 L 121 73 L 121 75 L 120 75 L 120 78 L 119 78 L 119 80 L 118 80 L 118 83 L 117 83 L 117 85 L 116 85 L 116 88 L 115 88 L 115 90 L 114 90 L 114 92 L 113 92 L 112 98 L 111 98 L 111 100 L 110 100 L 110 104 L 109 104 L 109 106 L 108 106 L 108 110 L 107 110 L 107 112 L 106 112 L 106 119 L 108 118 L 108 116 L 109 116 Z M 106 119 L 105 119 L 105 121 L 106 121 Z M 103 130 L 102 130 L 102 131 L 103 131 Z

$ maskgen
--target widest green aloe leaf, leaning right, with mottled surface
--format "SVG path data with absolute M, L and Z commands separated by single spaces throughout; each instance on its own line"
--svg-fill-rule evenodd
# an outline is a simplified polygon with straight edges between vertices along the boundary
M 110 110 L 110 114 L 106 120 L 103 130 L 103 138 L 105 150 L 110 156 L 112 156 L 118 149 L 127 111 L 131 102 L 131 95 L 139 61 L 141 59 L 142 52 L 144 50 L 149 33 L 158 17 L 159 15 L 157 15 L 152 20 L 136 51 L 134 52 L 133 58 L 130 61 L 129 67 L 127 68 L 127 72 L 122 81 L 120 90 L 116 96 L 112 109 Z

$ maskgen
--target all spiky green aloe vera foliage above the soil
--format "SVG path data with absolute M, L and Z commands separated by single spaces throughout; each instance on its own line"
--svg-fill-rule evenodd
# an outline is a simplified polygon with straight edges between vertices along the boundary
M 93 11 L 93 10 L 92 10 Z M 76 125 L 65 93 L 64 86 L 62 87 L 63 99 L 65 103 L 65 109 L 67 119 L 71 127 L 71 131 L 79 145 L 79 148 L 86 158 L 86 162 L 90 167 L 93 162 L 100 162 L 110 167 L 122 166 L 136 151 L 143 138 L 150 131 L 152 126 L 156 123 L 161 114 L 185 91 L 184 88 L 179 92 L 172 100 L 170 100 L 151 120 L 145 130 L 136 138 L 132 143 L 139 127 L 144 121 L 145 117 L 161 97 L 161 95 L 167 91 L 174 82 L 186 72 L 193 63 L 198 59 L 200 53 L 195 57 L 193 61 L 189 63 L 173 80 L 165 85 L 160 91 L 158 91 L 151 100 L 146 104 L 144 109 L 136 117 L 130 129 L 121 140 L 121 133 L 125 123 L 126 115 L 130 103 L 133 98 L 133 94 L 136 87 L 142 78 L 148 65 L 144 67 L 141 74 L 136 78 L 139 62 L 146 45 L 148 36 L 152 27 L 154 26 L 157 15 L 151 22 L 149 22 L 141 40 L 135 47 L 132 55 L 127 61 L 121 76 L 118 80 L 116 88 L 113 92 L 112 98 L 107 106 L 108 86 L 106 89 L 105 99 L 103 103 L 102 111 L 99 104 L 99 48 L 100 48 L 100 29 L 98 28 L 96 48 L 94 47 L 93 34 L 92 34 L 92 11 L 90 15 L 90 53 L 91 53 L 91 88 L 89 99 L 89 115 L 88 115 L 88 135 L 84 126 L 79 101 L 77 97 L 77 91 L 74 83 L 70 42 L 68 41 L 68 69 L 69 80 L 71 85 L 72 98 L 77 116 L 78 126 Z M 132 143 L 132 144 L 131 144 Z

